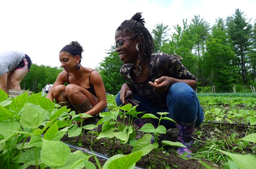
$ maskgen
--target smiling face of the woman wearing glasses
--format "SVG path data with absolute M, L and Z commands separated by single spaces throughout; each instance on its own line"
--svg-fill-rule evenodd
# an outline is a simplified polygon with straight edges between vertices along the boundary
M 137 57 L 138 57 L 138 51 L 136 50 L 136 44 L 137 44 L 137 37 L 134 37 L 134 35 L 125 34 L 121 35 L 121 31 L 116 31 L 115 34 L 115 41 L 116 44 L 119 43 L 119 41 L 122 41 L 124 39 L 127 39 L 125 41 L 121 42 L 121 48 L 116 48 L 116 51 L 119 54 L 119 59 L 123 61 L 123 63 L 137 63 Z M 131 39 L 128 39 L 131 38 Z

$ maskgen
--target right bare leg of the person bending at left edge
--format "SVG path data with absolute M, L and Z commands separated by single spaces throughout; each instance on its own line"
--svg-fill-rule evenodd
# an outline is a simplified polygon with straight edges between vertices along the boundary
M 11 87 L 13 90 L 20 90 L 20 82 L 24 79 L 27 70 L 14 70 L 11 79 Z

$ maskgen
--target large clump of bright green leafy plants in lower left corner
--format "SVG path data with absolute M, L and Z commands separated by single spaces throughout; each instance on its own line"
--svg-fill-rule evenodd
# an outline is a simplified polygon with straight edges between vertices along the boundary
M 55 109 L 49 99 L 37 94 L 28 97 L 26 92 L 13 99 L 7 97 L 0 90 L 0 168 L 93 166 L 87 161 L 90 155 L 71 153 L 59 141 L 67 130 L 58 129 L 68 124 L 58 118 L 67 114 L 67 107 Z

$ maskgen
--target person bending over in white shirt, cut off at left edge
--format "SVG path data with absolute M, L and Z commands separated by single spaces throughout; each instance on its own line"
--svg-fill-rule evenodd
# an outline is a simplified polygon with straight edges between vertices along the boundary
M 0 89 L 20 90 L 20 82 L 31 67 L 31 59 L 21 51 L 0 52 Z

